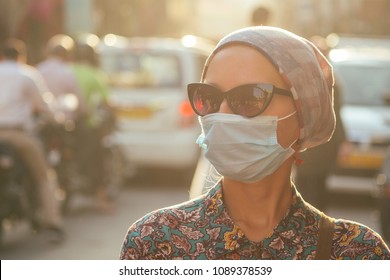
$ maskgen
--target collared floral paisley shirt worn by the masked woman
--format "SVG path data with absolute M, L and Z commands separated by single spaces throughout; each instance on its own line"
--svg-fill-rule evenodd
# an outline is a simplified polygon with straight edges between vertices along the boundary
M 321 212 L 293 188 L 285 217 L 253 242 L 229 217 L 222 183 L 183 204 L 151 212 L 130 226 L 120 259 L 314 259 Z M 390 259 L 382 238 L 361 224 L 337 219 L 331 259 Z

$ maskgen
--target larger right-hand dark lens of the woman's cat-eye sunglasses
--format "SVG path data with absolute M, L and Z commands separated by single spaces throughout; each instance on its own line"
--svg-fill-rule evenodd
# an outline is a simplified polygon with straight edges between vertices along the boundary
M 229 105 L 233 112 L 245 117 L 262 113 L 267 106 L 270 92 L 256 86 L 242 86 L 229 94 Z

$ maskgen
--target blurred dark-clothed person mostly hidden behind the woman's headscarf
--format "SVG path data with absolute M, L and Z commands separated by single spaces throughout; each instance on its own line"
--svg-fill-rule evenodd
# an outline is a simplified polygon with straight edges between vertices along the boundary
M 329 54 L 329 46 L 326 39 L 321 36 L 314 36 L 310 41 L 324 54 Z M 337 81 L 337 79 L 336 79 Z M 336 115 L 336 128 L 329 142 L 308 149 L 300 154 L 302 164 L 297 166 L 295 182 L 299 192 L 318 209 L 325 211 L 328 203 L 327 178 L 337 164 L 339 147 L 345 141 L 343 121 L 340 116 L 341 92 L 337 83 L 334 86 L 334 111 Z

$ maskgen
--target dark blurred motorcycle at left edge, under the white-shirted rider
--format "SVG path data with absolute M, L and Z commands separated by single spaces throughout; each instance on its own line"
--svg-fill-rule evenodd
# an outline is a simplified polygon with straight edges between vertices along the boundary
M 38 230 L 38 197 L 33 176 L 18 152 L 0 142 L 0 243 L 5 224 L 26 220 Z

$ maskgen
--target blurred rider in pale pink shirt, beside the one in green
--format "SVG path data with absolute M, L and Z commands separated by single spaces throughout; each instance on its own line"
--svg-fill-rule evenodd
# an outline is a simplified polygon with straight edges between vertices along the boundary
M 57 34 L 46 44 L 47 58 L 37 64 L 49 90 L 56 98 L 71 93 L 77 98 L 77 110 L 66 112 L 67 118 L 77 122 L 86 113 L 86 102 L 71 69 L 74 40 L 68 35 Z

